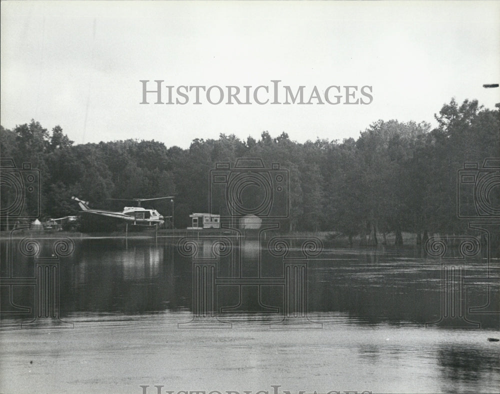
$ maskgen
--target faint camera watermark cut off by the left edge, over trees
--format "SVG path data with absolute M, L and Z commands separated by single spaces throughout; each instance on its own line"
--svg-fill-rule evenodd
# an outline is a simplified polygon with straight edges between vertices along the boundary
M 0 220 L 40 215 L 40 171 L 31 163 L 18 168 L 11 158 L 0 159 Z

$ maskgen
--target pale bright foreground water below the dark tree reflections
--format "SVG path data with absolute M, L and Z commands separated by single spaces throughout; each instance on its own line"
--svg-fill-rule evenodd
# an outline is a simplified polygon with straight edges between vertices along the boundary
M 321 329 L 309 329 L 307 335 L 300 327 L 251 324 L 230 329 L 179 328 L 178 322 L 189 318 L 187 313 L 76 320 L 72 329 L 6 330 L 0 391 L 20 392 L 22 387 L 22 392 L 149 394 L 156 392 L 154 384 L 164 384 L 164 390 L 171 392 L 242 393 L 245 389 L 254 394 L 262 389 L 274 392 L 272 384 L 280 394 L 353 388 L 357 392 L 440 392 L 443 384 L 455 387 L 451 374 L 455 369 L 440 361 L 443 349 L 452 346 L 458 354 L 481 354 L 475 360 L 482 367 L 492 363 L 480 379 L 464 381 L 463 391 L 495 392 L 497 345 L 486 340 L 490 330 L 370 327 L 345 321 L 341 315 L 324 317 Z M 384 362 L 373 362 L 373 353 Z M 401 366 L 402 356 L 411 368 Z M 300 376 L 293 369 L 297 359 L 302 365 Z M 447 368 L 448 374 L 436 375 L 439 367 Z M 307 382 L 304 376 L 309 377 Z M 147 385 L 147 390 L 140 385 Z

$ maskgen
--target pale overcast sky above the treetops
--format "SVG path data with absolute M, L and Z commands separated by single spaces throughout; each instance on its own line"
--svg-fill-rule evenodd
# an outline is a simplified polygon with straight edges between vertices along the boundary
M 1 1 L 0 122 L 60 125 L 75 143 L 220 133 L 357 138 L 427 121 L 452 97 L 500 102 L 500 1 Z M 371 86 L 369 104 L 149 104 L 142 83 Z M 215 90 L 216 91 L 216 90 Z M 342 90 L 341 90 L 342 91 Z M 352 91 L 352 90 L 351 90 Z M 166 87 L 162 87 L 166 101 Z M 265 93 L 262 90 L 260 93 Z M 280 94 L 283 90 L 280 90 Z M 272 99 L 272 95 L 269 95 Z M 173 100 L 175 94 L 173 95 Z M 215 99 L 213 99 L 215 97 Z M 216 101 L 217 94 L 212 96 Z M 241 93 L 244 100 L 244 94 Z M 262 94 L 264 99 L 265 94 Z M 282 98 L 282 96 L 280 96 Z M 351 96 L 352 97 L 352 96 Z M 283 100 L 281 100 L 283 101 Z M 323 100 L 324 101 L 324 100 Z

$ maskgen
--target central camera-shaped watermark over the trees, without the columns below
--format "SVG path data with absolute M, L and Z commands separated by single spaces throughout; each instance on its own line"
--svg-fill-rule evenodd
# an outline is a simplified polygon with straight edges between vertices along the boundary
M 210 170 L 210 213 L 219 213 L 221 218 L 250 214 L 287 218 L 288 178 L 288 170 L 279 163 L 265 168 L 260 158 L 238 158 L 232 168 L 229 162 L 217 162 Z

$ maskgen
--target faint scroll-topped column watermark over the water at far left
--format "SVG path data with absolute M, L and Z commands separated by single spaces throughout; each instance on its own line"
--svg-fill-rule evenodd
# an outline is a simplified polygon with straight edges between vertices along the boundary
M 16 314 L 33 316 L 33 319 L 21 323 L 21 327 L 30 328 L 73 328 L 74 324 L 60 318 L 59 299 L 59 265 L 60 259 L 69 256 L 74 250 L 71 238 L 59 236 L 26 236 L 21 238 L 15 235 L 17 228 L 10 231 L 7 251 L 5 275 L 0 277 L 0 285 L 6 286 L 8 291 L 8 306 L 0 310 L 0 314 Z M 48 253 L 43 253 L 48 248 Z M 33 258 L 33 274 L 17 275 L 13 258 L 14 250 L 20 255 Z M 34 298 L 29 306 L 18 305 L 14 300 L 14 291 L 18 288 L 33 287 Z

